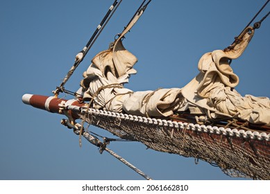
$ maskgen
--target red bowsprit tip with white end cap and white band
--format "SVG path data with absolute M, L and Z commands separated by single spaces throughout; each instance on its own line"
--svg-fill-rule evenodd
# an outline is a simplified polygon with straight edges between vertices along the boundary
M 38 109 L 44 109 L 48 112 L 58 113 L 62 114 L 60 112 L 60 106 L 59 104 L 64 101 L 65 105 L 75 105 L 78 107 L 83 107 L 85 105 L 84 103 L 80 103 L 76 99 L 71 100 L 65 100 L 62 98 L 57 98 L 56 96 L 42 96 L 42 95 L 35 95 L 35 94 L 24 94 L 22 96 L 22 101 L 26 105 L 31 105 L 32 107 L 36 107 Z M 75 114 L 74 112 L 70 112 L 69 114 L 73 118 L 79 118 L 78 114 Z

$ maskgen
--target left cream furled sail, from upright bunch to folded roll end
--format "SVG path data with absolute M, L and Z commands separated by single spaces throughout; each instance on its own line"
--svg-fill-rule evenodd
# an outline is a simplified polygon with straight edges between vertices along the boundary
M 181 104 L 180 89 L 137 91 L 124 88 L 130 74 L 136 73 L 133 65 L 137 58 L 124 48 L 121 39 L 112 48 L 101 51 L 83 73 L 83 98 L 93 98 L 93 107 L 112 112 L 135 115 L 169 116 Z

